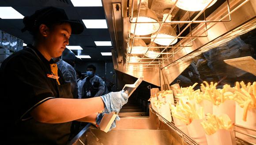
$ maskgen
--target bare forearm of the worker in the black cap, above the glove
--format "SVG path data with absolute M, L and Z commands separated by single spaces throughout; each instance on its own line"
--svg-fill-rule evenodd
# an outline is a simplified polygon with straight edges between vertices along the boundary
M 104 109 L 102 98 L 88 99 L 53 98 L 35 107 L 31 116 L 43 123 L 64 123 L 81 119 L 101 112 Z

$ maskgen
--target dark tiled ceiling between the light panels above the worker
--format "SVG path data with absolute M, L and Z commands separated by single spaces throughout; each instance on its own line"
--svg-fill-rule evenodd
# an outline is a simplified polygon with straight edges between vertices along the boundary
M 86 0 L 85 0 L 86 1 Z M 0 7 L 13 7 L 23 16 L 32 15 L 42 7 L 54 6 L 63 8 L 68 18 L 73 20 L 82 19 L 105 19 L 103 7 L 74 7 L 71 0 L 0 0 Z M 1 19 L 0 29 L 16 36 L 24 43 L 32 43 L 33 38 L 28 32 L 21 32 L 24 27 L 22 19 Z M 101 52 L 111 52 L 112 46 L 96 46 L 94 41 L 111 41 L 108 29 L 85 29 L 82 34 L 72 35 L 69 45 L 78 45 L 83 48 L 80 55 L 90 55 L 90 59 L 83 61 L 112 60 L 112 56 L 102 56 Z M 77 50 L 72 50 L 75 55 Z

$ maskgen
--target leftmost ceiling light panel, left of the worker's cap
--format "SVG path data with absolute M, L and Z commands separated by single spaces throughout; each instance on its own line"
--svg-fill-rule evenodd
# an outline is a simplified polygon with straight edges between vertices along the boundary
M 21 15 L 12 7 L 0 7 L 0 18 L 2 19 L 23 19 L 24 16 Z

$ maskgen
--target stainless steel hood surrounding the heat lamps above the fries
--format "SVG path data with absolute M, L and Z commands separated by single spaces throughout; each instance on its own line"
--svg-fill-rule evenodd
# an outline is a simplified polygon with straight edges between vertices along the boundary
M 103 5 L 104 3 L 110 3 L 109 1 L 112 1 L 112 3 L 116 2 L 114 0 L 103 0 Z M 141 74 L 143 74 L 145 81 L 157 85 L 159 87 L 162 87 L 162 84 L 164 84 L 163 79 L 160 78 L 160 69 L 165 68 L 163 70 L 166 71 L 168 82 L 171 83 L 180 74 L 180 72 L 182 72 L 182 69 L 186 67 L 184 65 L 180 69 L 178 68 L 180 67 L 180 65 L 171 65 L 173 64 L 173 62 L 179 61 L 181 58 L 184 58 L 186 55 L 192 53 L 200 47 L 202 47 L 203 49 L 203 46 L 205 46 L 207 43 L 213 42 L 213 40 L 225 35 L 227 32 L 230 32 L 232 29 L 237 28 L 238 26 L 244 24 L 248 20 L 254 19 L 256 15 L 255 0 L 226 0 L 226 2 L 224 2 L 220 7 L 218 7 L 210 16 L 208 16 L 207 18 L 203 18 L 203 20 L 196 19 L 196 17 L 199 16 L 199 14 L 196 15 L 194 19 L 190 19 L 189 17 L 191 17 L 191 15 L 193 15 L 194 12 L 186 11 L 186 13 L 182 13 L 180 11 L 177 11 L 177 7 L 174 7 L 175 4 L 171 4 L 169 1 L 162 0 L 160 2 L 159 0 L 150 0 L 148 2 L 149 7 L 151 8 L 151 10 L 157 13 L 157 16 L 158 18 L 160 18 L 160 20 L 162 18 L 163 9 L 171 9 L 169 14 L 173 15 L 173 20 L 171 22 L 163 22 L 163 20 L 162 22 L 159 22 L 159 24 L 168 23 L 171 24 L 173 27 L 176 27 L 178 33 L 177 38 L 180 38 L 181 41 L 174 46 L 159 46 L 158 48 L 162 50 L 161 56 L 159 58 L 147 58 L 145 57 L 145 54 L 143 54 L 142 59 L 138 63 L 134 63 L 129 61 L 130 55 L 126 52 L 127 43 L 129 42 L 129 39 L 143 38 L 143 40 L 146 41 L 148 39 L 151 39 L 151 37 L 135 37 L 129 35 L 131 25 L 130 19 L 132 17 L 131 9 L 136 9 L 138 5 L 136 4 L 136 2 L 133 1 L 137 2 L 137 0 L 129 0 L 127 5 L 127 0 L 121 1 L 121 6 L 125 6 L 122 7 L 122 11 L 124 11 L 124 13 L 122 13 L 123 17 L 121 18 L 119 14 L 117 16 L 110 15 L 116 13 L 110 11 L 112 10 L 111 8 L 109 8 L 111 7 L 111 5 L 104 5 L 109 27 L 111 27 L 113 23 L 122 24 L 118 25 L 118 27 L 116 28 L 116 32 L 120 32 L 120 29 L 122 29 L 123 36 L 114 36 L 116 32 L 113 28 L 111 28 L 112 30 L 110 29 L 111 37 L 114 36 L 113 40 L 123 42 L 122 46 L 119 43 L 121 47 L 117 48 L 114 46 L 114 50 L 116 52 L 117 49 L 118 51 L 122 51 L 119 54 L 116 54 L 123 58 L 121 59 L 122 62 L 120 62 L 120 58 L 117 58 L 118 60 L 113 60 L 114 62 L 119 62 L 115 63 L 115 69 L 135 77 L 138 77 Z M 136 5 L 133 6 L 133 3 L 135 3 Z M 162 3 L 166 5 L 162 5 Z M 200 11 L 200 14 L 205 16 L 204 10 Z M 193 23 L 198 23 L 199 25 L 197 25 L 195 28 L 192 28 L 190 25 Z M 184 29 L 180 28 L 184 24 L 188 24 L 186 25 L 185 28 L 188 28 L 190 31 L 187 36 L 181 36 L 181 34 L 184 33 Z M 158 29 L 158 31 L 160 31 L 160 29 Z M 215 41 L 211 45 L 216 45 L 217 43 L 218 42 Z M 149 44 L 148 49 L 150 47 L 151 43 Z

